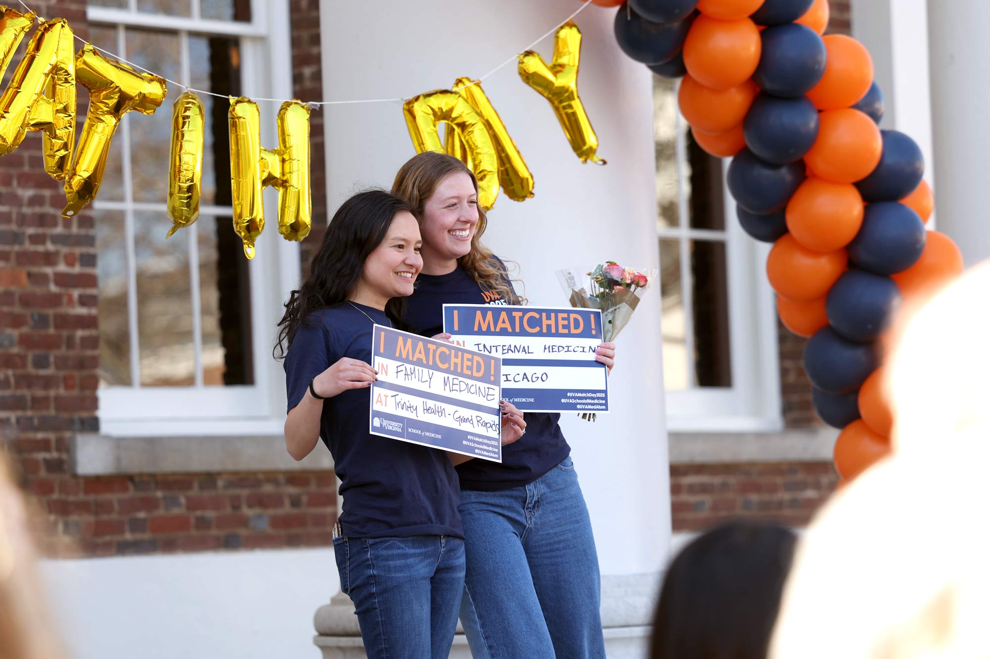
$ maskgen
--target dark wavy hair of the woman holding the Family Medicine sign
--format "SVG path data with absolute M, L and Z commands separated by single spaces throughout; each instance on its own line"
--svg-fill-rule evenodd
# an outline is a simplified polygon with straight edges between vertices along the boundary
M 409 204 L 384 190 L 358 192 L 341 204 L 313 256 L 309 279 L 292 291 L 278 322 L 272 355 L 283 359 L 296 329 L 313 312 L 347 301 L 361 277 L 364 259 L 381 244 L 397 213 L 412 215 Z M 392 298 L 385 314 L 395 327 L 405 315 L 405 298 Z

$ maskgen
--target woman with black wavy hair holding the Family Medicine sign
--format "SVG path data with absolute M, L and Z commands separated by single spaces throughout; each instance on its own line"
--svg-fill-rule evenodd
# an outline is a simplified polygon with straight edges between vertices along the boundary
M 379 190 L 348 199 L 285 305 L 275 348 L 285 358 L 286 448 L 301 460 L 322 438 L 341 479 L 334 551 L 368 657 L 446 659 L 463 592 L 449 457 L 368 431 L 372 328 L 399 325 L 420 245 L 405 202 Z M 503 441 L 523 428 L 505 417 Z

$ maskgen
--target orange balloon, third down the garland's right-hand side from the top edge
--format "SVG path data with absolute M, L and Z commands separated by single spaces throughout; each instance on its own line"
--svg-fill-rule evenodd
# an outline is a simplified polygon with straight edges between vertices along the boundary
M 819 178 L 855 183 L 880 163 L 880 129 L 865 113 L 845 108 L 818 116 L 818 138 L 805 154 L 805 163 Z

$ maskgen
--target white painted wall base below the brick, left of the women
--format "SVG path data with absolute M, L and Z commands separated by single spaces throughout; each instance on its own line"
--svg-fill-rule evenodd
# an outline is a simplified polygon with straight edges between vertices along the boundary
M 332 548 L 46 561 L 73 659 L 316 659 L 313 612 L 340 590 Z

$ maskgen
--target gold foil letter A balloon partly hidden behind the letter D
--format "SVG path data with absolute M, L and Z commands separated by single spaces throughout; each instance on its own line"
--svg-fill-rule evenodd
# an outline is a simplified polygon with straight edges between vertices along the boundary
M 488 129 L 488 136 L 495 146 L 495 154 L 498 156 L 498 181 L 502 189 L 509 196 L 509 199 L 524 201 L 533 196 L 533 174 L 526 166 L 523 154 L 519 152 L 516 142 L 512 141 L 509 132 L 502 123 L 502 118 L 495 112 L 491 101 L 485 95 L 481 84 L 471 81 L 470 78 L 457 78 L 453 83 L 453 89 L 464 97 L 474 111 L 478 113 L 481 120 Z M 463 141 L 458 138 L 456 131 L 449 129 L 447 124 L 446 152 L 463 159 L 460 154 L 464 148 Z M 465 163 L 466 164 L 466 163 Z

